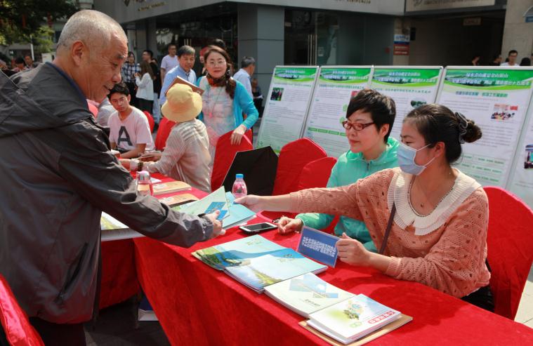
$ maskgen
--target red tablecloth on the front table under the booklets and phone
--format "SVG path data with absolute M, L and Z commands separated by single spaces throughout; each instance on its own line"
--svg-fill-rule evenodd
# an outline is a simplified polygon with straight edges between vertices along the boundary
M 252 220 L 249 223 L 259 222 Z M 298 234 L 262 234 L 296 248 Z M 298 322 L 304 318 L 264 294 L 239 284 L 190 253 L 245 237 L 237 228 L 191 248 L 134 239 L 138 279 L 172 345 L 327 345 Z M 320 277 L 363 293 L 413 321 L 374 341 L 376 345 L 527 345 L 533 329 L 481 310 L 421 284 L 338 262 Z

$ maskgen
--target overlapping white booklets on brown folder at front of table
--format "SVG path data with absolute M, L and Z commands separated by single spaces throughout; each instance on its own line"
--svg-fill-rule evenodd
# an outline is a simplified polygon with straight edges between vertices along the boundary
M 334 339 L 349 344 L 376 332 L 361 340 L 362 345 L 412 320 L 366 295 L 343 291 L 310 273 L 268 286 L 265 293 L 307 317 L 309 320 L 301 325 L 330 343 Z

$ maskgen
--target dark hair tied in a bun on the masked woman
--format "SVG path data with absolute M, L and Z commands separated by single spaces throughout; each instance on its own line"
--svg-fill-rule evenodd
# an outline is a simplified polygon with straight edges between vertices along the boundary
M 444 142 L 449 164 L 453 164 L 461 157 L 461 142 L 475 142 L 482 135 L 481 129 L 474 121 L 436 103 L 413 109 L 407 114 L 404 122 L 416 126 L 426 144 L 429 144 L 428 147 L 434 147 L 437 142 Z

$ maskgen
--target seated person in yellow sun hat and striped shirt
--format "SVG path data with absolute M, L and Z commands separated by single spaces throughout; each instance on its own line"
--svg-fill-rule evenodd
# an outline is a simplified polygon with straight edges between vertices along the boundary
M 145 154 L 139 158 L 140 161 L 121 159 L 120 162 L 131 171 L 163 173 L 204 192 L 211 192 L 209 136 L 204 123 L 195 119 L 202 111 L 202 96 L 192 91 L 190 86 L 174 84 L 166 97 L 162 114 L 177 124 L 166 140 L 163 153 Z

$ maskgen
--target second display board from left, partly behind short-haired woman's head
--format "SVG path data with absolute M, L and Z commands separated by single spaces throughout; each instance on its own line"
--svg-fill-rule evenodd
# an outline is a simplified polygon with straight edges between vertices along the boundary
M 348 103 L 368 85 L 371 66 L 324 66 L 320 68 L 312 95 L 303 137 L 317 142 L 330 157 L 349 149 L 341 122 Z

